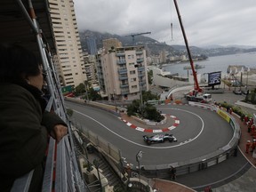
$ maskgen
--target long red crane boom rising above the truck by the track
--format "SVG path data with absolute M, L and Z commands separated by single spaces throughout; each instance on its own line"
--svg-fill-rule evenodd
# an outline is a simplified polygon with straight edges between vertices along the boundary
M 182 31 L 182 35 L 184 37 L 184 41 L 185 41 L 187 52 L 188 52 L 188 59 L 190 61 L 190 66 L 191 66 L 192 73 L 193 73 L 193 76 L 194 76 L 195 91 L 196 92 L 202 92 L 202 89 L 199 87 L 199 84 L 198 84 L 198 80 L 197 80 L 197 76 L 196 76 L 196 70 L 194 68 L 194 63 L 193 63 L 192 56 L 191 56 L 191 53 L 190 53 L 190 50 L 189 50 L 188 40 L 187 40 L 187 36 L 186 36 L 186 33 L 185 33 L 185 29 L 183 28 L 179 7 L 178 7 L 178 4 L 177 4 L 177 1 L 176 0 L 173 0 L 173 1 L 174 1 L 175 8 L 176 8 L 178 18 L 179 18 L 179 21 L 180 21 L 180 28 L 181 28 L 181 31 Z

